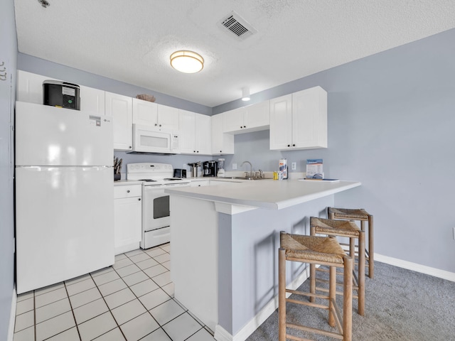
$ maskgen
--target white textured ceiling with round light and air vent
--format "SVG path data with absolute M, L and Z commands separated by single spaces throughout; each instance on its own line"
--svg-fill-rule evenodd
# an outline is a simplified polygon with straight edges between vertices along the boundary
M 19 52 L 208 107 L 455 27 L 454 0 L 48 1 L 14 0 Z M 231 11 L 257 33 L 221 28 Z M 173 70 L 181 49 L 204 69 Z

